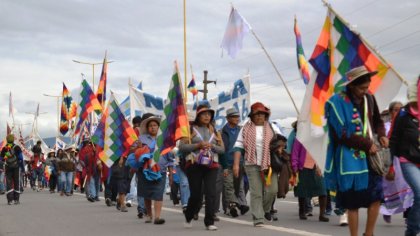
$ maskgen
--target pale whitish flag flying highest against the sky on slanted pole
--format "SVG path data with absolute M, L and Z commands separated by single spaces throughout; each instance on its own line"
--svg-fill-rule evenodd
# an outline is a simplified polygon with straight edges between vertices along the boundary
M 239 14 L 238 10 L 232 7 L 220 47 L 225 49 L 231 58 L 235 58 L 236 54 L 242 49 L 242 41 L 245 35 L 251 30 L 251 25 Z

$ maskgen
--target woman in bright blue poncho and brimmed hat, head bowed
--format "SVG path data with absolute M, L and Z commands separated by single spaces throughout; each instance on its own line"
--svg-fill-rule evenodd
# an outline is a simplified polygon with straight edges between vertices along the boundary
M 325 104 L 329 130 L 325 180 L 328 189 L 337 191 L 337 208 L 348 209 L 351 236 L 358 235 L 359 208 L 368 209 L 364 235 L 373 235 L 383 198 L 382 176 L 372 170 L 368 161 L 379 151 L 368 135 L 369 126 L 381 146 L 388 146 L 378 105 L 368 94 L 371 77 L 376 74 L 364 66 L 350 70 L 343 83 L 345 90 Z

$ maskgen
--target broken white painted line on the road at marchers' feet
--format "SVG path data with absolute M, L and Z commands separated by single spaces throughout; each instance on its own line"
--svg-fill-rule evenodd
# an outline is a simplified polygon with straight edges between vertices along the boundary
M 81 194 L 81 193 L 74 193 L 74 195 L 86 196 L 85 194 Z M 102 200 L 105 200 L 104 197 L 99 197 L 99 198 L 102 199 Z M 293 202 L 293 201 L 280 201 L 280 203 L 296 204 L 296 202 Z M 133 203 L 133 205 L 136 205 L 136 204 Z M 162 207 L 162 210 L 183 214 L 182 210 L 177 210 L 177 209 L 168 208 L 168 207 Z M 200 213 L 199 215 L 201 217 L 204 217 L 204 214 L 202 214 L 202 213 Z M 231 222 L 231 223 L 240 224 L 240 225 L 253 226 L 253 223 L 249 222 L 249 221 L 232 219 L 232 218 L 227 218 L 227 217 L 223 217 L 223 216 L 218 216 L 218 217 L 219 217 L 220 220 L 223 220 L 223 221 L 226 221 L 226 222 Z M 302 235 L 302 236 L 331 236 L 329 234 L 317 234 L 317 233 L 314 233 L 314 232 L 308 232 L 308 231 L 304 231 L 304 230 L 298 230 L 298 229 L 286 228 L 286 227 L 274 226 L 274 225 L 264 225 L 262 228 L 273 230 L 273 231 L 278 231 L 278 232 L 283 232 L 283 233 Z

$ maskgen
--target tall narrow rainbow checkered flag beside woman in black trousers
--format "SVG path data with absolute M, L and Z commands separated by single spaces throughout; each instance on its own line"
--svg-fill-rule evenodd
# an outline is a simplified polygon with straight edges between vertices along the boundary
M 160 122 L 153 160 L 159 162 L 162 155 L 170 152 L 176 145 L 176 141 L 183 137 L 189 137 L 189 122 L 187 109 L 182 93 L 178 63 L 175 61 L 175 71 L 171 78 L 171 86 L 168 98 L 165 100 L 163 117 Z M 154 163 L 151 165 L 153 166 Z

